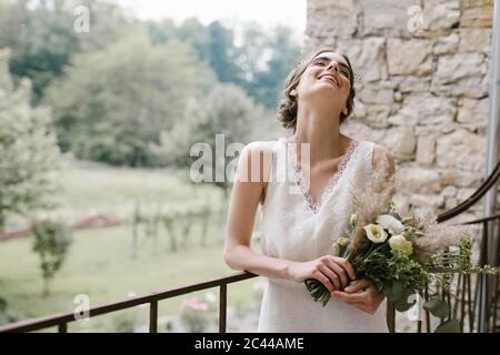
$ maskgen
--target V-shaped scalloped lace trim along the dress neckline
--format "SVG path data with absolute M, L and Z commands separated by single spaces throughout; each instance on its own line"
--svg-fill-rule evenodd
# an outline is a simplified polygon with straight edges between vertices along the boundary
M 358 140 L 353 140 L 353 139 L 351 140 L 348 148 L 346 149 L 344 155 L 342 156 L 342 159 L 340 160 L 340 162 L 338 164 L 337 171 L 328 180 L 328 183 L 324 186 L 324 189 L 319 197 L 319 201 L 316 201 L 314 197 L 309 193 L 308 189 L 304 186 L 306 183 L 304 183 L 302 170 L 299 166 L 298 161 L 297 161 L 297 150 L 289 149 L 290 162 L 292 164 L 292 172 L 294 174 L 297 184 L 298 184 L 299 189 L 301 190 L 302 195 L 306 199 L 306 201 L 308 202 L 312 212 L 318 213 L 321 205 L 323 204 L 323 201 L 327 200 L 327 197 L 332 192 L 333 187 L 337 185 L 337 182 L 339 181 L 339 179 L 342 178 L 343 171 L 346 170 L 346 166 L 348 165 L 349 161 L 351 160 L 352 153 L 356 151 L 356 148 L 359 145 L 359 143 L 360 142 Z

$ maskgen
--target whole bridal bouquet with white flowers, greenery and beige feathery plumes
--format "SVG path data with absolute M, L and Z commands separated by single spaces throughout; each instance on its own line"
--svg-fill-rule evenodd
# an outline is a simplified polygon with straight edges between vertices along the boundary
M 354 213 L 332 248 L 334 256 L 351 263 L 358 280 L 373 282 L 403 312 L 412 306 L 410 295 L 427 285 L 449 290 L 452 273 L 484 270 L 473 267 L 470 261 L 471 226 L 438 224 L 431 211 L 406 217 L 397 212 L 392 201 L 394 178 L 387 179 L 387 166 L 386 162 L 374 170 L 364 191 L 351 186 Z M 324 306 L 330 300 L 327 287 L 314 278 L 304 283 L 314 301 Z M 443 308 L 442 302 L 427 306 Z

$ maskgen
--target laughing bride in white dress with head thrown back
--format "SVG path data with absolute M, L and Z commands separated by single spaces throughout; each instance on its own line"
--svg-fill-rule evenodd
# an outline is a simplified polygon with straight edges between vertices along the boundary
M 383 294 L 357 280 L 344 258 L 331 255 L 352 212 L 349 186 L 362 189 L 383 159 L 388 176 L 394 174 L 383 146 L 340 132 L 353 109 L 353 81 L 349 59 L 331 49 L 302 59 L 287 79 L 278 110 L 293 135 L 252 142 L 240 154 L 224 260 L 233 270 L 267 277 L 259 332 L 388 331 Z M 251 248 L 259 204 L 261 253 Z M 324 307 L 313 302 L 307 278 L 330 291 Z

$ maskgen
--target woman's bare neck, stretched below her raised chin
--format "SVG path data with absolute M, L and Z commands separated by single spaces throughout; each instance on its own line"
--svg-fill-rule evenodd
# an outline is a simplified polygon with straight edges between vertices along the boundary
M 348 139 L 340 133 L 339 118 L 339 113 L 332 113 L 331 110 L 299 110 L 297 113 L 297 130 L 292 141 L 299 146 L 301 143 L 310 144 L 311 165 L 342 154 Z

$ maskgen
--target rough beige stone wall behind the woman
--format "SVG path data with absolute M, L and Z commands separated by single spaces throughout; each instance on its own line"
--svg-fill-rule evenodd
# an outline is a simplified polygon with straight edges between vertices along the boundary
M 493 0 L 308 0 L 306 50 L 349 55 L 357 100 L 341 130 L 391 151 L 401 211 L 447 211 L 484 179 L 492 12 Z

